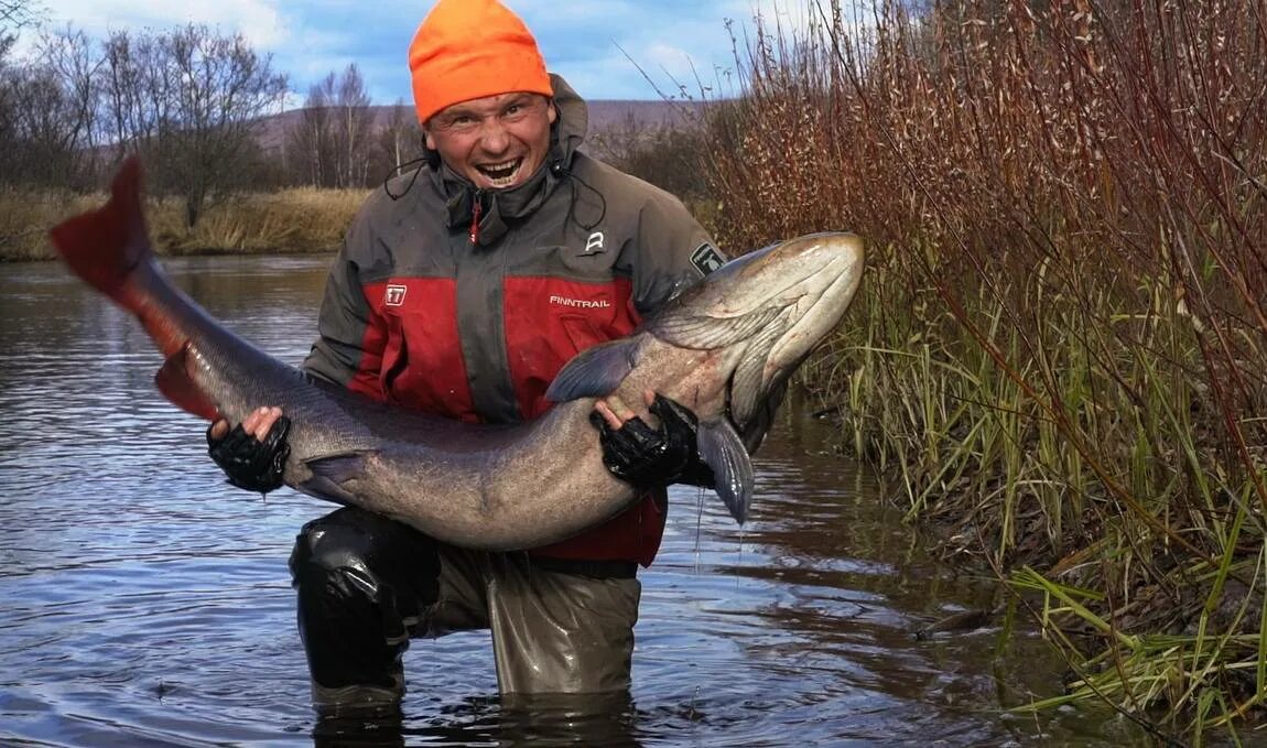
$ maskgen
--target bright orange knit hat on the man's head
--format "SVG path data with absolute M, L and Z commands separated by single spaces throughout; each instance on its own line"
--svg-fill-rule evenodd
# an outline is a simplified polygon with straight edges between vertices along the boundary
M 497 0 L 440 0 L 409 44 L 413 101 L 426 124 L 445 106 L 531 91 L 552 96 L 528 27 Z

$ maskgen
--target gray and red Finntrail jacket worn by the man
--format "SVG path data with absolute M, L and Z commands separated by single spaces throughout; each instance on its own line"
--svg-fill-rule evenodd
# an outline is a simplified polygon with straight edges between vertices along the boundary
M 426 413 L 526 421 L 549 409 L 569 359 L 627 335 L 721 260 L 677 198 L 576 151 L 585 104 L 552 81 L 554 141 L 528 184 L 476 194 L 433 157 L 366 202 L 331 270 L 308 371 Z M 647 565 L 664 506 L 661 491 L 533 553 Z

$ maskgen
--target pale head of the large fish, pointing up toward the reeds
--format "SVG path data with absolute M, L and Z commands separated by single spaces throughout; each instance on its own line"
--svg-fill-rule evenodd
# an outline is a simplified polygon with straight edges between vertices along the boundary
M 731 420 L 749 423 L 761 402 L 830 333 L 858 290 L 863 242 L 815 233 L 736 257 L 683 292 L 651 332 L 672 345 L 720 350 Z

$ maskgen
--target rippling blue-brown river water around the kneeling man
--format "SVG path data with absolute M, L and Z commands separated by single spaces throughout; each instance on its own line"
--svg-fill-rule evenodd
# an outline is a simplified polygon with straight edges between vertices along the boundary
M 174 278 L 299 363 L 328 257 L 191 257 Z M 131 317 L 57 264 L 0 265 L 0 743 L 35 745 L 1123 745 L 1025 624 L 916 640 L 991 579 L 921 551 L 878 482 L 788 412 L 740 531 L 675 487 L 642 574 L 630 700 L 502 702 L 487 634 L 416 642 L 403 725 L 314 725 L 286 557 L 334 508 L 223 484 L 155 390 Z M 341 729 L 347 729 L 341 728 Z

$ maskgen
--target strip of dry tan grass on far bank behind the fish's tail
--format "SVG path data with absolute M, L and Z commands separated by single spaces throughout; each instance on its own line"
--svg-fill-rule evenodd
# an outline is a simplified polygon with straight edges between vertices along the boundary
M 367 194 L 319 189 L 238 194 L 213 203 L 193 229 L 175 198 L 148 199 L 146 214 L 160 255 L 332 252 Z M 105 200 L 104 193 L 0 191 L 0 261 L 53 259 L 48 229 Z

